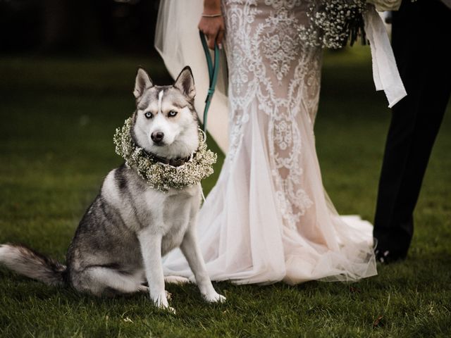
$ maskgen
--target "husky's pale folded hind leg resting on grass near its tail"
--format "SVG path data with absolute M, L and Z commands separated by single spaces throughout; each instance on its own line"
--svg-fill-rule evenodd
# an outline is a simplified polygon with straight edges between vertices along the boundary
M 105 292 L 130 294 L 142 291 L 142 280 L 113 268 L 93 266 L 78 273 L 72 281 L 75 289 L 101 296 Z

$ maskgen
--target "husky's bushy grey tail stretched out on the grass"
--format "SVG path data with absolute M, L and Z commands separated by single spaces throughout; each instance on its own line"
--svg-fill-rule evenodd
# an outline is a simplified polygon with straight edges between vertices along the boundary
M 20 244 L 0 245 L 0 263 L 16 273 L 49 285 L 63 285 L 66 265 Z

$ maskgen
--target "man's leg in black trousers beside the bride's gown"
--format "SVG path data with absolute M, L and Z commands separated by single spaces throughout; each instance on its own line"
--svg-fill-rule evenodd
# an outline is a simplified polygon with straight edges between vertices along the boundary
M 451 11 L 404 1 L 393 16 L 393 51 L 408 96 L 393 107 L 379 183 L 374 237 L 380 253 L 404 258 L 413 211 L 451 90 Z M 421 23 L 421 25 L 419 25 Z

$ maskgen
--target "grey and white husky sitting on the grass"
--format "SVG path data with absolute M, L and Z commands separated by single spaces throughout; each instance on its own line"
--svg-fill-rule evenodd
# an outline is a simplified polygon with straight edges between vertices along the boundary
M 135 80 L 132 138 L 168 161 L 189 158 L 199 145 L 194 78 L 185 67 L 172 86 L 156 86 L 142 68 Z M 168 308 L 161 256 L 180 246 L 206 301 L 225 300 L 206 272 L 196 237 L 200 184 L 163 193 L 125 164 L 111 170 L 69 246 L 67 267 L 26 246 L 0 246 L 0 263 L 51 285 L 80 292 L 127 294 L 148 291 Z M 149 287 L 144 286 L 148 282 Z

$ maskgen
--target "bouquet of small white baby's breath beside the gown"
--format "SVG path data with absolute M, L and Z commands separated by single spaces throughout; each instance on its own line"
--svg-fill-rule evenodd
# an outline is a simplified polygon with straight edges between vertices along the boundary
M 340 49 L 357 39 L 366 44 L 364 13 L 368 4 L 383 11 L 396 10 L 401 0 L 320 0 L 307 10 L 309 24 L 299 28 L 299 37 L 310 46 Z

